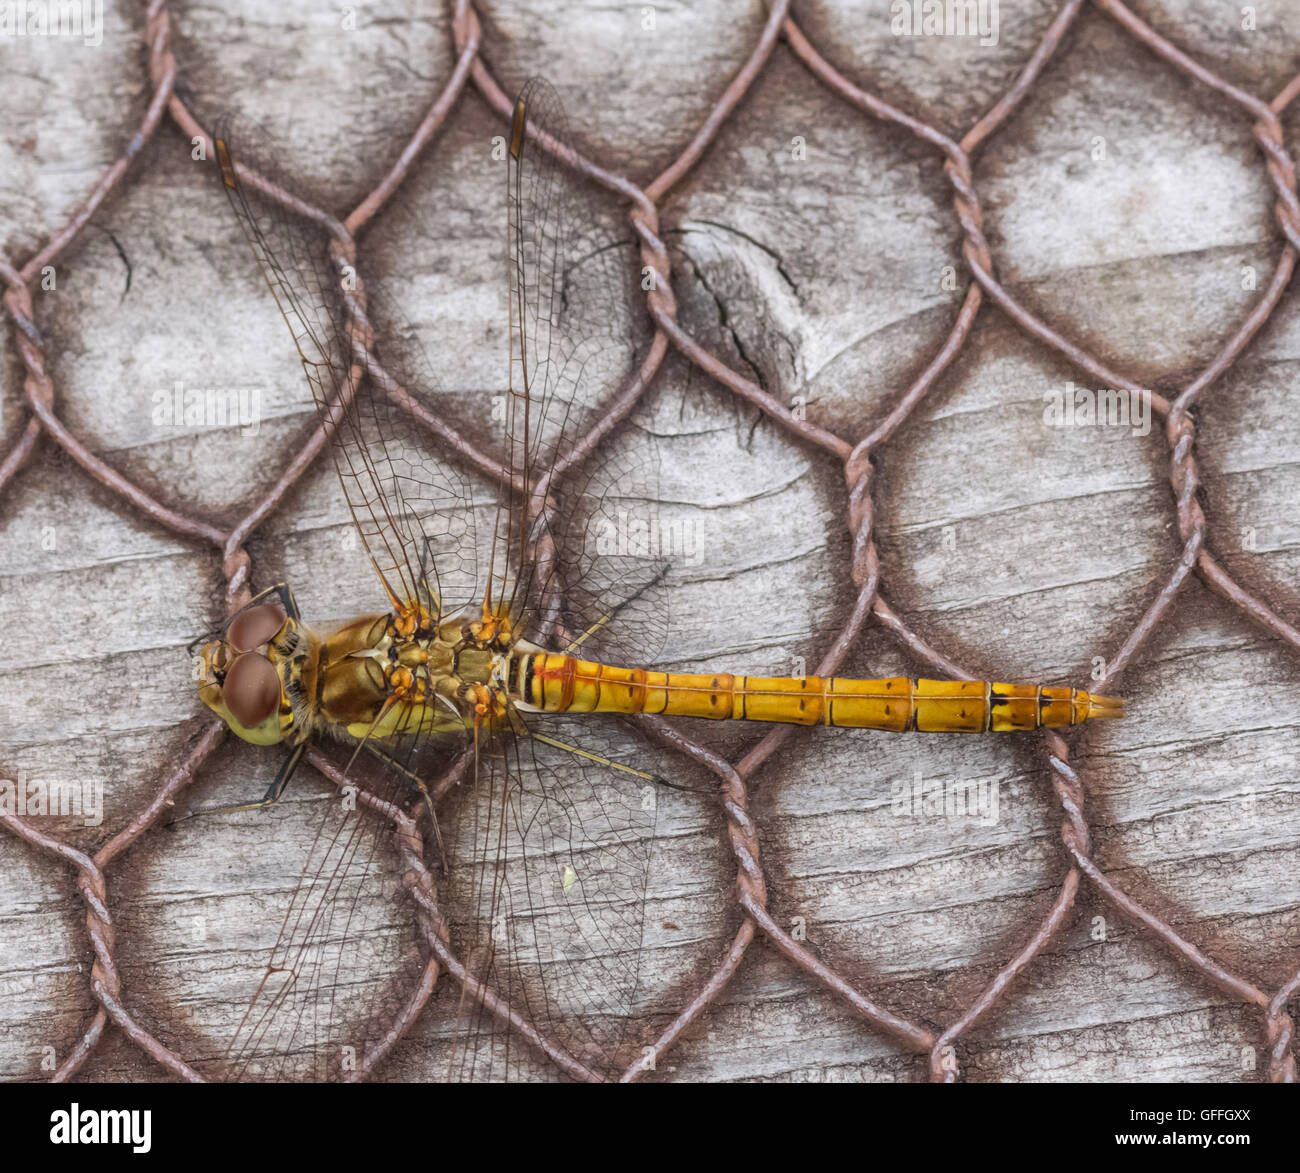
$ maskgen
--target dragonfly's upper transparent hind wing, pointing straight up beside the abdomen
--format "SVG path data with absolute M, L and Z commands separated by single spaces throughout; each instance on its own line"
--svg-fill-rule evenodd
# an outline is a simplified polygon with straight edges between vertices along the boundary
M 649 659 L 667 627 L 659 456 L 647 433 L 610 425 L 650 329 L 636 244 L 619 238 L 627 229 L 566 163 L 571 142 L 555 91 L 530 81 L 516 103 L 507 179 L 504 429 L 504 463 L 530 492 L 502 501 L 494 596 L 512 601 L 538 642 L 563 646 L 599 624 L 589 652 Z

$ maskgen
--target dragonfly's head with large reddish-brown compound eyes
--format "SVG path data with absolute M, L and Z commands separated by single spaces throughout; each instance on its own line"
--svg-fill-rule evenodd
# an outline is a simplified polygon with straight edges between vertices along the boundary
M 199 652 L 199 698 L 254 745 L 276 745 L 294 728 L 287 674 L 296 624 L 276 603 L 240 611 Z

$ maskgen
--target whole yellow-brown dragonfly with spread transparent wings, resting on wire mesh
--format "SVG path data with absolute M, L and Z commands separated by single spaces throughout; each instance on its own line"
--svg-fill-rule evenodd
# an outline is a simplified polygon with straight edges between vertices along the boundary
M 633 433 L 620 445 L 627 429 L 602 425 L 638 377 L 650 332 L 630 308 L 634 254 L 588 239 L 593 205 L 568 142 L 555 91 L 529 82 L 506 143 L 510 354 L 491 402 L 499 466 L 486 525 L 469 488 L 482 468 L 439 447 L 430 364 L 412 367 L 400 345 L 376 342 L 382 312 L 393 316 L 381 324 L 403 334 L 398 311 L 358 295 L 328 231 L 254 178 L 266 169 L 246 165 L 234 137 L 216 143 L 380 602 L 318 632 L 281 583 L 203 642 L 203 704 L 243 741 L 285 750 L 260 801 L 222 810 L 274 805 L 307 746 L 324 744 L 341 748 L 346 776 L 417 811 L 472 978 L 456 1007 L 454 1079 L 528 1066 L 520 1052 L 533 1044 L 511 1021 L 551 1040 L 549 1057 L 571 1075 L 612 1078 L 634 1057 L 628 1023 L 655 813 L 675 783 L 603 722 L 656 714 L 979 733 L 1123 715 L 1122 701 L 1070 687 L 650 667 L 680 551 L 645 537 L 658 523 L 653 438 Z M 459 783 L 436 801 L 437 780 L 455 770 Z M 226 1052 L 231 1077 L 343 1075 L 343 1039 L 367 1008 L 332 979 L 352 948 L 350 887 L 372 869 L 377 822 L 358 813 L 317 835 Z M 370 1021 L 360 1042 L 384 1030 Z

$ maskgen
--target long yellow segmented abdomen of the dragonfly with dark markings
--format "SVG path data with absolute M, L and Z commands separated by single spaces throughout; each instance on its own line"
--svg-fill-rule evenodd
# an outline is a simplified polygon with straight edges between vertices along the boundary
M 543 653 L 520 663 L 520 694 L 543 713 L 662 713 L 848 728 L 982 733 L 1123 717 L 1123 701 L 1079 688 L 987 680 L 845 680 L 650 672 Z

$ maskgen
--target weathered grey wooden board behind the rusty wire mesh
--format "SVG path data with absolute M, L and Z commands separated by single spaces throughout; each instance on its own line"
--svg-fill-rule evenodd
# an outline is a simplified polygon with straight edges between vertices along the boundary
M 1236 5 L 1136 5 L 1176 43 L 1261 96 L 1295 68 L 1300 16 Z M 640 182 L 662 170 L 742 64 L 758 4 L 485 5 L 485 59 L 507 87 L 546 74 L 593 155 Z M 1001 4 L 996 47 L 896 38 L 885 0 L 801 4 L 801 26 L 848 75 L 959 137 L 1010 83 L 1053 5 Z M 179 7 L 187 100 L 261 125 L 325 205 L 369 190 L 452 66 L 450 13 Z M 120 152 L 148 100 L 142 14 L 105 14 L 103 43 L 0 40 L 0 247 L 22 263 Z M 1288 142 L 1297 116 L 1288 113 Z M 393 205 L 361 237 L 421 329 L 448 416 L 499 386 L 503 204 L 491 138 L 467 94 Z M 802 138 L 806 157 L 792 140 Z M 975 179 L 1002 278 L 1118 369 L 1162 390 L 1204 365 L 1279 252 L 1249 118 L 1088 12 Z M 966 287 L 942 160 L 837 101 L 777 47 L 701 164 L 662 208 L 681 319 L 811 419 L 861 437 L 923 369 Z M 607 208 L 614 231 L 618 208 Z M 630 250 L 624 250 L 630 259 Z M 165 125 L 120 192 L 36 294 L 58 411 L 147 492 L 221 527 L 274 481 L 311 403 L 211 172 Z M 1210 542 L 1251 589 L 1300 616 L 1300 313 L 1288 294 L 1200 414 Z M 12 329 L 0 382 L 5 443 L 25 419 Z M 1178 557 L 1156 429 L 1052 428 L 1044 395 L 1089 380 L 985 310 L 963 355 L 880 454 L 884 590 L 927 640 L 1001 679 L 1086 684 Z M 256 428 L 159 417 L 156 393 L 246 388 Z M 636 425 L 662 490 L 703 541 L 672 580 L 664 666 L 737 672 L 814 665 L 844 624 L 842 473 L 671 358 Z M 478 484 L 482 502 L 486 484 Z M 255 581 L 283 576 L 334 619 L 378 600 L 348 550 L 322 464 L 250 544 Z M 94 850 L 159 785 L 202 727 L 185 645 L 221 614 L 212 549 L 151 524 L 43 443 L 0 498 L 0 776 L 103 783 L 100 826 L 43 826 Z M 868 631 L 858 675 L 918 674 Z M 846 670 L 848 674 L 848 670 Z M 1096 856 L 1188 939 L 1261 988 L 1300 964 L 1300 665 L 1193 583 L 1123 680 L 1131 717 L 1079 739 Z M 692 728 L 738 757 L 749 728 Z M 228 745 L 195 802 L 260 795 L 274 762 Z M 902 811 L 900 787 L 979 782 L 996 819 Z M 291 891 L 329 787 L 309 778 L 269 814 L 155 830 L 109 873 L 126 1001 L 195 1062 L 217 1055 L 264 958 L 263 914 Z M 800 732 L 753 793 L 771 908 L 884 1005 L 941 1027 L 1022 947 L 1065 871 L 1035 739 Z M 662 1023 L 738 923 L 715 805 L 671 793 L 659 817 L 637 1014 Z M 390 861 L 390 869 L 395 862 Z M 398 934 L 400 900 L 373 931 Z M 663 929 L 664 923 L 677 926 Z M 273 936 L 272 931 L 272 936 Z M 70 873 L 0 837 L 0 1075 L 36 1078 L 94 1013 Z M 437 1072 L 452 995 L 384 1066 Z M 1254 1078 L 1258 1017 L 1191 977 L 1084 887 L 1070 926 L 959 1046 L 971 1079 Z M 671 1052 L 692 1079 L 911 1079 L 923 1060 L 866 1029 L 760 942 L 703 1025 Z M 156 1078 L 120 1036 L 94 1078 Z

